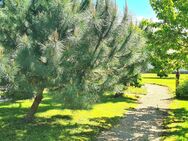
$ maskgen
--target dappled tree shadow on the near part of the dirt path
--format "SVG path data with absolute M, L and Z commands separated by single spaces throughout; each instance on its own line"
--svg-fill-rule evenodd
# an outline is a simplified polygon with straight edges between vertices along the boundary
M 164 134 L 163 120 L 168 110 L 153 107 L 130 110 L 117 127 L 102 132 L 98 140 L 155 140 Z

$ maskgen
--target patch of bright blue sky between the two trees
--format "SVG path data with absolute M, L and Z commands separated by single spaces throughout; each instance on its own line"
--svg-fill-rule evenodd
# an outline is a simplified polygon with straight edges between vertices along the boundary
M 120 10 L 125 7 L 125 0 L 116 0 Z M 127 0 L 129 13 L 137 18 L 156 19 L 149 0 Z

